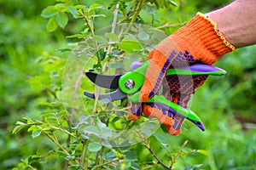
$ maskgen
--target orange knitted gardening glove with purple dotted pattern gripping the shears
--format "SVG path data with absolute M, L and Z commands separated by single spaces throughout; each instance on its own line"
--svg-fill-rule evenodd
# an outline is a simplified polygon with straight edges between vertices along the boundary
M 216 23 L 204 14 L 196 14 L 186 26 L 166 37 L 149 53 L 151 62 L 141 89 L 141 102 L 151 99 L 159 91 L 166 70 L 171 66 L 175 68 L 196 63 L 212 65 L 219 57 L 232 50 L 235 48 L 218 31 Z M 181 76 L 166 77 L 170 91 L 165 96 L 166 99 L 187 108 L 190 95 L 195 93 L 195 88 L 200 87 L 207 77 L 192 76 L 193 81 L 191 81 L 189 76 L 190 83 L 186 83 L 186 76 L 182 77 L 184 77 L 183 83 L 179 82 L 179 79 L 183 79 Z M 166 125 L 167 132 L 172 135 L 180 133 L 184 119 L 156 103 L 132 104 L 129 111 L 132 113 L 131 120 L 135 117 L 140 118 L 142 111 L 145 116 L 156 117 Z

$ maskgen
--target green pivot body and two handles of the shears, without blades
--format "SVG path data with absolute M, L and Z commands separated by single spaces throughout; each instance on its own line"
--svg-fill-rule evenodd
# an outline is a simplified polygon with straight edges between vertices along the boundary
M 143 86 L 145 80 L 145 74 L 148 68 L 150 60 L 143 63 L 143 65 L 137 67 L 137 69 L 130 71 L 119 78 L 119 88 L 125 94 L 132 94 L 131 101 L 134 103 L 140 102 L 140 93 L 137 92 Z M 226 71 L 214 67 L 212 65 L 188 65 L 178 68 L 172 68 L 166 71 L 166 76 L 169 75 L 212 75 L 212 76 L 221 76 L 224 75 Z M 132 86 L 127 86 L 127 82 L 131 83 Z M 147 103 L 160 103 L 172 108 L 174 111 L 177 111 L 179 114 L 187 117 L 191 120 L 201 122 L 199 116 L 197 116 L 193 111 L 187 110 L 165 98 L 164 95 L 154 95 L 152 99 L 145 101 Z

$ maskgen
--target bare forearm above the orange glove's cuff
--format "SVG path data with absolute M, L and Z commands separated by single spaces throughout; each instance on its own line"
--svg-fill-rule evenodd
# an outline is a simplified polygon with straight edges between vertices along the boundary
M 206 15 L 236 48 L 256 43 L 256 0 L 236 0 Z

